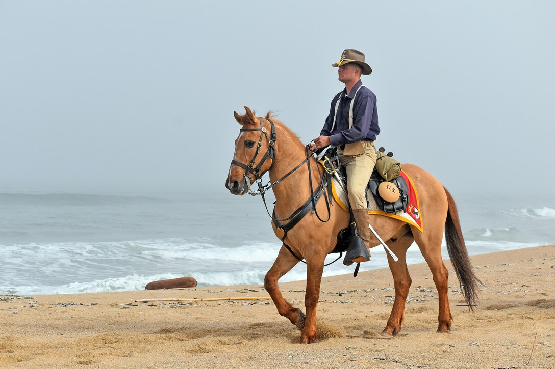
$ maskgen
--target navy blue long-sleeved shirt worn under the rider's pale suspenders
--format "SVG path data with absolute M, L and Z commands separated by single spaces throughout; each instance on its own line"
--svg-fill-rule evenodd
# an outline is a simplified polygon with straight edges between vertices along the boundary
M 353 86 L 349 95 L 345 96 L 345 88 L 331 100 L 330 114 L 327 116 L 324 128 L 320 132 L 320 136 L 330 137 L 331 146 L 362 140 L 375 141 L 376 136 L 380 133 L 380 127 L 378 126 L 378 111 L 376 108 L 376 95 L 366 86 L 362 86 L 356 94 L 355 104 L 352 109 L 352 127 L 349 129 L 351 101 L 361 84 L 362 81 L 359 80 Z M 330 131 L 334 122 L 337 99 L 341 99 L 341 102 L 339 103 L 339 109 L 337 109 L 334 130 Z

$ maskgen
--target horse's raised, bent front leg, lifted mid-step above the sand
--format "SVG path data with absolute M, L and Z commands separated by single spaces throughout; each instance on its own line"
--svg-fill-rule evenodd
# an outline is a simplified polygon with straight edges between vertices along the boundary
M 278 286 L 278 280 L 297 263 L 299 263 L 299 260 L 293 257 L 289 250 L 282 245 L 274 265 L 272 265 L 268 273 L 266 273 L 264 288 L 268 291 L 268 294 L 270 294 L 279 314 L 289 319 L 297 328 L 302 329 L 304 326 L 304 314 L 302 314 L 300 309 L 292 307 L 291 304 L 283 298 Z

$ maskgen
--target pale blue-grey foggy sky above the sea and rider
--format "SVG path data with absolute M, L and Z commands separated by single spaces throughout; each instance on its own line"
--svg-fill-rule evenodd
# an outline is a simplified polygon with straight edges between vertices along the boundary
M 454 191 L 551 188 L 554 16 L 551 1 L 0 0 L 0 192 L 225 191 L 233 111 L 275 110 L 309 142 L 346 48 L 374 70 L 377 146 Z

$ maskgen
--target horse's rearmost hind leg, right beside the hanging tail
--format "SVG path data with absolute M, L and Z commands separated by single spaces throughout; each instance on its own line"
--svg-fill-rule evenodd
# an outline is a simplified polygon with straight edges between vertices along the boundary
M 439 322 L 437 332 L 448 333 L 451 331 L 451 320 L 453 317 L 451 316 L 449 298 L 447 295 L 447 290 L 449 288 L 447 283 L 449 271 L 441 258 L 443 226 L 437 225 L 436 229 L 433 229 L 432 223 L 428 222 L 426 227 L 426 233 L 421 233 L 418 230 L 415 231 L 415 240 L 432 272 L 433 283 L 436 284 L 440 310 L 437 316 Z

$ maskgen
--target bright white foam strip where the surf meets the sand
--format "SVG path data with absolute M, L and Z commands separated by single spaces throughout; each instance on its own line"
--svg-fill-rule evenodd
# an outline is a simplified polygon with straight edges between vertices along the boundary
M 545 244 L 545 243 L 544 243 Z M 525 247 L 532 247 L 539 245 L 538 243 L 519 243 L 519 242 L 491 242 L 491 241 L 467 241 L 466 242 L 468 253 L 481 254 L 487 252 L 495 252 L 499 250 L 510 250 Z M 255 245 L 253 245 L 255 247 Z M 442 245 L 443 258 L 448 258 L 448 253 L 445 248 L 445 243 Z M 270 253 L 270 259 L 273 260 L 277 255 L 277 250 Z M 329 255 L 327 262 L 330 262 L 337 254 Z M 118 256 L 118 258 L 120 258 Z M 407 252 L 407 263 L 423 263 L 423 259 L 420 249 L 418 249 L 416 244 L 413 244 Z M 168 259 L 164 259 L 168 262 Z M 163 260 L 163 262 L 164 262 Z M 179 260 L 178 260 L 179 261 Z M 183 262 L 183 260 L 181 260 Z M 81 262 L 77 262 L 80 264 Z M 133 262 L 135 263 L 135 262 Z M 61 270 L 60 265 L 36 265 L 39 268 L 39 274 L 43 274 L 42 279 L 25 280 L 23 284 L 19 285 L 1 285 L 0 284 L 0 294 L 69 294 L 69 293 L 95 293 L 95 292 L 108 292 L 108 291 L 133 291 L 133 290 L 143 290 L 144 286 L 149 282 L 154 280 L 172 279 L 179 278 L 182 276 L 193 276 L 199 283 L 199 287 L 202 286 L 226 286 L 226 285 L 263 285 L 264 276 L 269 270 L 271 262 L 259 262 L 259 263 L 235 263 L 234 267 L 223 268 L 221 262 L 216 263 L 198 263 L 195 262 L 196 268 L 191 267 L 185 273 L 158 273 L 158 274 L 142 274 L 142 273 L 132 273 L 123 274 L 121 276 L 110 276 L 104 279 L 87 279 L 93 275 L 102 275 L 107 273 L 107 270 L 99 269 L 99 271 L 94 273 L 82 273 L 79 275 L 77 270 Z M 68 263 L 69 264 L 69 263 Z M 100 263 L 102 264 L 102 263 Z M 159 265 L 159 264 L 158 264 Z M 243 265 L 243 268 L 241 268 Z M 361 271 L 387 268 L 387 258 L 386 251 L 382 247 L 372 248 L 372 261 L 370 263 L 362 263 Z M 42 269 L 40 269 L 42 268 Z M 123 265 L 122 270 L 128 269 L 128 266 Z M 154 266 L 156 269 L 156 266 Z M 229 269 L 229 270 L 225 270 Z M 354 268 L 352 266 L 347 267 L 342 265 L 341 260 L 338 260 L 335 264 L 327 266 L 324 269 L 324 276 L 339 275 L 339 274 L 352 274 Z M 53 278 L 53 276 L 67 276 L 69 279 L 78 279 L 78 281 L 72 281 L 68 283 L 52 284 L 53 281 L 63 280 L 60 278 Z M 52 277 L 52 278 L 51 278 Z M 351 278 L 351 277 L 348 277 Z M 288 282 L 295 280 L 306 279 L 306 266 L 304 264 L 297 264 L 294 269 L 289 271 L 284 275 L 280 282 Z M 34 281 L 34 283 L 33 283 Z

